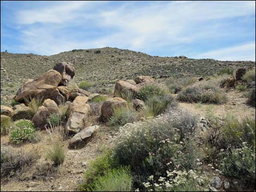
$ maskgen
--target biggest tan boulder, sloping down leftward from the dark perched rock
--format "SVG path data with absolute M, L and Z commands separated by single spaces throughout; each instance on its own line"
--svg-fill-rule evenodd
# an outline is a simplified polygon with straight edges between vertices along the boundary
M 49 70 L 41 77 L 34 80 L 27 80 L 18 90 L 15 101 L 20 103 L 25 102 L 24 98 L 40 98 L 42 101 L 50 98 L 55 102 L 58 100 L 65 100 L 64 96 L 60 94 L 57 86 L 62 80 L 62 76 L 58 71 Z

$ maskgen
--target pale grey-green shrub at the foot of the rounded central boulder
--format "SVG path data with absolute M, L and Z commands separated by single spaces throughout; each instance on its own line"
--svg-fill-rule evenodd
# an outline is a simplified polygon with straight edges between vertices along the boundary
M 109 117 L 109 126 L 124 126 L 126 123 L 132 123 L 137 121 L 138 115 L 129 107 L 120 107 L 113 109 L 113 115 Z

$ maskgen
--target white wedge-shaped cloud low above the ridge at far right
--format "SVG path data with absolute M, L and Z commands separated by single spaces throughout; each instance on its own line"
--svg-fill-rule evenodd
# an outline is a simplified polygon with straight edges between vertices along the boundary
M 220 48 L 197 55 L 196 58 L 214 58 L 217 60 L 252 60 L 255 61 L 255 42 Z

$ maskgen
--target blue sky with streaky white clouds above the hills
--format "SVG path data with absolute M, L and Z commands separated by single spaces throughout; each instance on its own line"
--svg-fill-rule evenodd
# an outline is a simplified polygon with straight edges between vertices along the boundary
M 1 1 L 1 51 L 100 47 L 255 61 L 255 1 Z

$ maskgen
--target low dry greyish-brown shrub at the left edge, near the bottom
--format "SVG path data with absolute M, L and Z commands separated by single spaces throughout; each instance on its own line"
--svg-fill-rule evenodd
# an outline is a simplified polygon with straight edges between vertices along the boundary
M 18 171 L 31 166 L 39 156 L 35 151 L 24 152 L 14 150 L 3 150 L 1 148 L 1 177 L 14 176 Z

